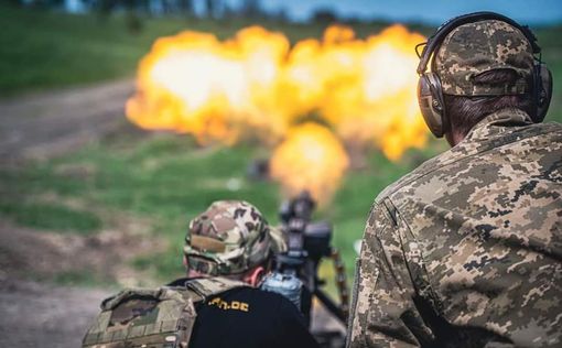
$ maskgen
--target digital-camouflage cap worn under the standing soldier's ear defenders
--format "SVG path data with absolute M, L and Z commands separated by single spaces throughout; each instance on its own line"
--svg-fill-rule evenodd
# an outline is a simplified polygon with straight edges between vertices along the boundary
M 534 57 L 531 43 L 517 28 L 484 20 L 455 28 L 441 44 L 434 62 L 443 93 L 455 96 L 501 96 L 529 93 Z M 515 84 L 476 84 L 473 78 L 493 69 L 512 69 Z

